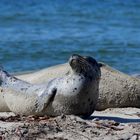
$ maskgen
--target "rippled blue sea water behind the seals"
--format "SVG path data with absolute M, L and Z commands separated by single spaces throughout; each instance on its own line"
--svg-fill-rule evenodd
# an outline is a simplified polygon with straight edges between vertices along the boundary
M 0 63 L 9 72 L 90 55 L 140 73 L 140 0 L 1 0 Z

